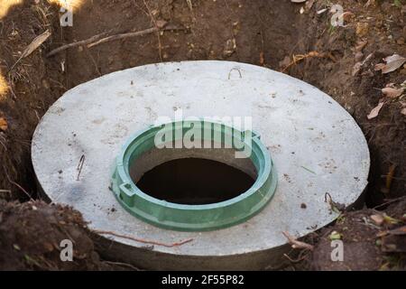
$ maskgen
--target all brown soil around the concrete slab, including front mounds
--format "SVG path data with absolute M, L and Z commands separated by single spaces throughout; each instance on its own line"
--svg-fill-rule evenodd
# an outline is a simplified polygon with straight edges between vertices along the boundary
M 48 107 L 82 82 L 147 63 L 208 59 L 262 65 L 303 79 L 335 98 L 364 131 L 372 159 L 370 184 L 364 194 L 364 205 L 370 209 L 346 212 L 328 232 L 321 230 L 308 238 L 316 245 L 314 252 L 301 254 L 300 266 L 292 262 L 292 267 L 401 268 L 404 232 L 380 238 L 376 234 L 404 226 L 406 203 L 396 200 L 406 195 L 406 97 L 401 93 L 385 97 L 382 89 L 389 85 L 401 91 L 406 66 L 386 74 L 374 66 L 394 53 L 406 57 L 406 1 L 308 0 L 307 6 L 288 0 L 67 1 L 75 8 L 73 27 L 60 27 L 59 3 L 64 1 L 0 0 L 0 199 L 4 200 L 0 203 L 0 252 L 4 256 L 0 268 L 115 268 L 97 257 L 77 212 L 26 202 L 37 199 L 30 159 L 32 132 Z M 344 7 L 345 27 L 330 24 L 329 8 L 337 4 Z M 46 57 L 52 49 L 98 33 L 171 25 L 181 29 L 91 48 L 77 46 Z M 51 32 L 47 41 L 22 57 L 32 40 L 46 30 Z M 380 102 L 379 115 L 368 119 Z M 388 200 L 398 206 L 395 212 L 385 205 L 379 207 L 381 211 L 372 209 Z M 383 210 L 384 221 L 377 225 L 371 216 L 382 217 Z M 28 228 L 42 218 L 39 224 L 43 222 L 43 226 Z M 21 227 L 19 222 L 25 225 Z M 368 230 L 364 232 L 364 228 Z M 343 230 L 355 237 L 348 238 Z M 352 252 L 359 262 L 340 267 L 324 258 L 323 252 L 330 250 L 331 232 L 354 245 Z M 70 234 L 78 236 L 83 245 L 78 255 L 83 257 L 67 267 L 58 262 L 52 241 Z M 38 238 L 38 244 L 15 243 L 38 235 L 51 238 Z M 397 239 L 388 249 L 381 238 L 389 242 L 392 235 Z

